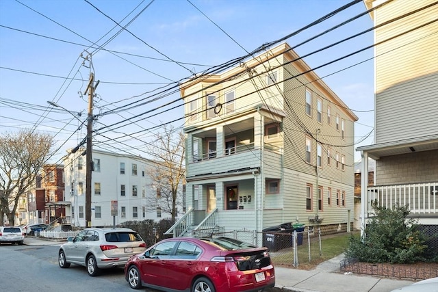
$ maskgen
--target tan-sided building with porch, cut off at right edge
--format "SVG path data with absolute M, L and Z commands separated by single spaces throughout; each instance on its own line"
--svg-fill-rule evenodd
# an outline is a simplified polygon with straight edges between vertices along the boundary
M 364 2 L 372 8 L 385 1 Z M 374 49 L 375 141 L 357 150 L 376 168 L 373 187 L 362 177 L 361 221 L 373 215 L 372 200 L 409 204 L 411 217 L 438 233 L 438 5 L 390 1 L 371 18 L 376 26 L 404 14 L 374 31 L 374 42 L 382 42 Z

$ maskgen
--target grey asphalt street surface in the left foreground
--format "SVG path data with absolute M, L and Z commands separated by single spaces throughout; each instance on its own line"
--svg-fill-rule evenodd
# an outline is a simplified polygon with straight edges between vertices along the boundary
M 0 245 L 2 291 L 134 291 L 125 280 L 123 269 L 105 269 L 90 277 L 85 267 L 57 264 L 59 245 Z M 154 289 L 138 291 L 155 292 Z

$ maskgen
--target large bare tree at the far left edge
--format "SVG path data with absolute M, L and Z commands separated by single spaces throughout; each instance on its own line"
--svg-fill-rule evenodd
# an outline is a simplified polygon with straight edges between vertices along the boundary
M 0 135 L 0 224 L 6 215 L 14 225 L 20 197 L 35 187 L 38 171 L 52 146 L 51 135 L 30 130 Z

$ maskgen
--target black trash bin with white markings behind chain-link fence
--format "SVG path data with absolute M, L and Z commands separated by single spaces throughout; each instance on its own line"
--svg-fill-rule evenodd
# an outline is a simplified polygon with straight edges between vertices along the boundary
M 269 248 L 270 252 L 292 247 L 291 235 L 293 230 L 294 228 L 290 223 L 283 223 L 263 229 L 263 246 Z

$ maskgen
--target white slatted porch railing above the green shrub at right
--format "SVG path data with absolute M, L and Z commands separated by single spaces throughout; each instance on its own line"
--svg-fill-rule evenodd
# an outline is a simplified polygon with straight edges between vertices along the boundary
M 438 215 L 438 182 L 368 187 L 367 192 L 370 214 L 372 202 L 377 201 L 387 209 L 408 205 L 412 215 Z

